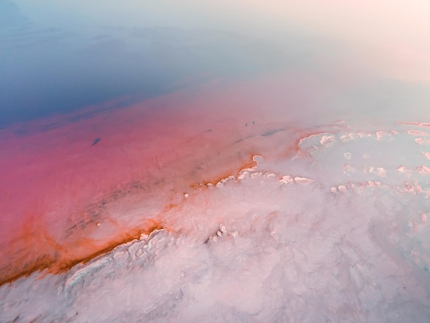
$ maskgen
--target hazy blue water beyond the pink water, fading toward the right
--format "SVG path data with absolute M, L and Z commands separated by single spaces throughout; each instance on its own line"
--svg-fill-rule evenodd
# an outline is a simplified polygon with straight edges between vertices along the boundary
M 0 1 L 1 127 L 124 96 L 151 98 L 184 86 L 183 80 L 238 76 L 276 63 L 258 58 L 261 49 L 234 34 L 65 24 L 58 8 L 45 7 L 52 15 L 41 20 L 40 12 L 26 16 L 13 1 Z

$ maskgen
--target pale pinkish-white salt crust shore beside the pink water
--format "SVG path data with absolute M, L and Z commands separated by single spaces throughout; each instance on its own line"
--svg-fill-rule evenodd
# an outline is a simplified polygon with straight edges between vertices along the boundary
M 328 127 L 284 157 L 255 155 L 256 166 L 183 192 L 163 216 L 174 230 L 3 285 L 0 317 L 428 322 L 429 136 L 419 124 Z M 269 137 L 289 142 L 288 131 Z

